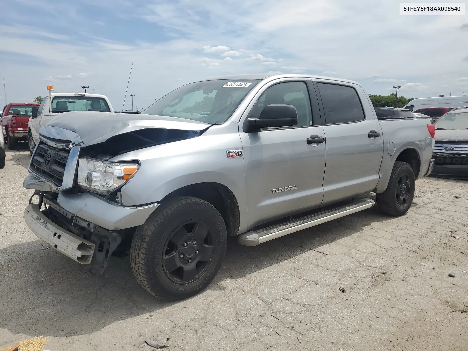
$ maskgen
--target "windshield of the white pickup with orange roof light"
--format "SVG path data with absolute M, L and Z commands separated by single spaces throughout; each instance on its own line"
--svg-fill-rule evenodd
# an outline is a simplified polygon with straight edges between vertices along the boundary
M 107 102 L 100 97 L 92 96 L 55 96 L 52 99 L 53 113 L 69 111 L 110 112 Z

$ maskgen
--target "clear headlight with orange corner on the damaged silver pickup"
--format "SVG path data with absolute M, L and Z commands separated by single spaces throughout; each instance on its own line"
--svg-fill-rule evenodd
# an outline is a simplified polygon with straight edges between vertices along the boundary
M 78 184 L 85 189 L 109 194 L 138 170 L 137 163 L 114 163 L 81 158 L 78 161 Z

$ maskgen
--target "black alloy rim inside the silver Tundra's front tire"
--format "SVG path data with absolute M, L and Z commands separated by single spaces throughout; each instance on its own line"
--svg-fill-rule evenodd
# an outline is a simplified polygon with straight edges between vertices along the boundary
M 201 219 L 186 221 L 166 241 L 162 267 L 176 284 L 191 283 L 208 269 L 215 255 L 213 228 Z

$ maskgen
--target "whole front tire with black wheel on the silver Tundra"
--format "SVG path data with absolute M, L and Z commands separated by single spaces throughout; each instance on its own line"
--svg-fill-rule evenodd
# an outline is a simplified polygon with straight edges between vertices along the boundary
M 172 198 L 137 228 L 130 249 L 133 275 L 159 299 L 188 298 L 216 276 L 226 242 L 226 225 L 213 205 L 196 197 Z

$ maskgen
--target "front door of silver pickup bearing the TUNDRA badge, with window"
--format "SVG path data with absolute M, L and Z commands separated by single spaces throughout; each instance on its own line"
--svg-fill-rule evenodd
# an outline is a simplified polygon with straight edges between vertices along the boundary
M 271 104 L 293 105 L 298 124 L 244 132 L 242 121 L 258 117 L 263 107 Z M 240 135 L 249 225 L 319 207 L 323 198 L 325 143 L 307 143 L 312 135 L 324 135 L 312 80 L 270 82 L 257 93 L 248 111 L 241 120 Z

